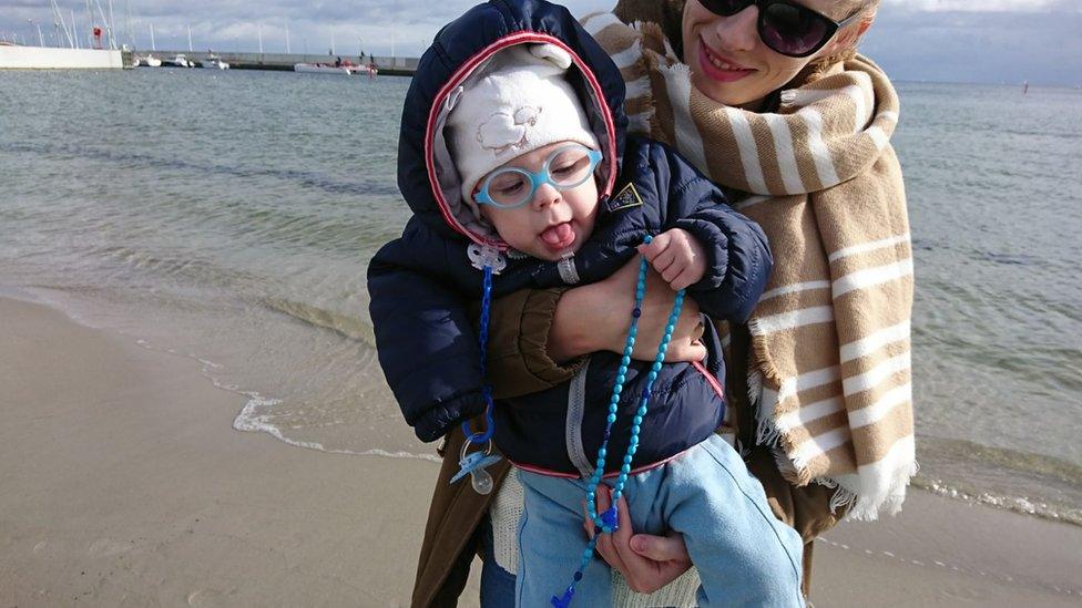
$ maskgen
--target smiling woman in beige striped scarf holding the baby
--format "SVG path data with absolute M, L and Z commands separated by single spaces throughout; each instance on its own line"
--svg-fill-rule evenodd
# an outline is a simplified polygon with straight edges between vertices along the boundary
M 858 518 L 897 511 L 915 467 L 912 262 L 889 145 L 897 96 L 875 64 L 855 56 L 877 3 L 623 0 L 615 17 L 643 25 L 613 16 L 584 21 L 622 69 L 631 130 L 674 145 L 770 238 L 776 267 L 767 292 L 748 326 L 727 328 L 727 430 L 775 514 L 805 539 L 805 592 L 815 536 L 846 508 Z M 619 351 L 626 327 L 610 311 L 623 309 L 633 280 L 621 272 L 500 301 L 489 349 L 497 393 L 541 390 L 568 380 L 576 357 Z M 647 290 L 649 307 L 667 310 L 672 293 L 662 291 Z M 672 358 L 697 355 L 696 313 L 685 310 Z M 644 350 L 657 342 L 651 329 L 660 336 L 640 321 Z M 448 436 L 451 457 L 437 483 L 414 606 L 453 602 L 478 544 L 482 604 L 504 605 L 509 585 L 513 591 L 517 484 L 503 483 L 503 468 L 494 499 L 449 486 L 460 445 L 460 434 Z M 688 567 L 678 537 L 632 537 L 626 526 L 599 549 L 639 591 L 660 589 Z M 683 587 L 693 588 L 677 583 L 627 604 L 681 605 Z

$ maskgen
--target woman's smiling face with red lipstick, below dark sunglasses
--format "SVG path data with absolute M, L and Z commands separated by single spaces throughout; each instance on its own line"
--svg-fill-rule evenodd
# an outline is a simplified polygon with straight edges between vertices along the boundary
M 849 17 L 860 6 L 837 0 L 794 1 L 835 21 Z M 706 10 L 698 0 L 687 0 L 682 25 L 684 63 L 691 66 L 692 83 L 700 92 L 726 105 L 758 110 L 764 97 L 793 80 L 808 63 L 853 44 L 858 30 L 867 28 L 856 20 L 836 32 L 815 54 L 790 58 L 763 43 L 756 27 L 758 16 L 755 4 L 722 17 Z

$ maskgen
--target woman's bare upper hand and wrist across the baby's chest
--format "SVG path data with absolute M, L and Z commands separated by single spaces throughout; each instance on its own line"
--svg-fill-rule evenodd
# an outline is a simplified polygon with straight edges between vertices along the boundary
M 639 264 L 636 257 L 605 280 L 576 287 L 560 298 L 549 332 L 548 352 L 553 360 L 566 361 L 599 350 L 623 352 L 635 303 Z M 646 274 L 646 296 L 632 358 L 653 361 L 675 297 L 676 292 L 657 272 Z M 706 357 L 706 347 L 698 342 L 702 336 L 698 305 L 685 298 L 665 361 L 702 361 Z

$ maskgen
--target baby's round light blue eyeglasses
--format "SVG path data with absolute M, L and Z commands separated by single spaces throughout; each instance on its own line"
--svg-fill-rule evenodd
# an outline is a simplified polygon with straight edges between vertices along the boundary
M 502 167 L 493 171 L 473 195 L 478 205 L 492 205 L 500 209 L 521 207 L 533 199 L 538 188 L 551 184 L 558 190 L 581 186 L 593 176 L 601 162 L 601 152 L 582 144 L 568 144 L 557 148 L 541 165 L 541 171 L 530 173 L 520 167 Z

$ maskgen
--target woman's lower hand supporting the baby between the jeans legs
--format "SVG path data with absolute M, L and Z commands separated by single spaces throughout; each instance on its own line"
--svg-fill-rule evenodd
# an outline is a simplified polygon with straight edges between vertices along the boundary
M 603 513 L 611 504 L 611 488 L 599 485 L 596 491 L 598 513 Z M 583 505 L 583 511 L 585 506 Z M 692 566 L 684 538 L 675 533 L 666 536 L 634 534 L 631 529 L 631 515 L 627 502 L 621 496 L 616 502 L 616 532 L 603 534 L 598 539 L 598 553 L 627 580 L 627 586 L 640 594 L 652 594 L 676 580 Z M 583 527 L 593 538 L 593 522 L 586 514 Z

